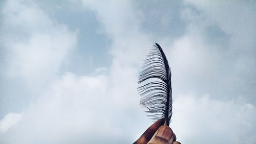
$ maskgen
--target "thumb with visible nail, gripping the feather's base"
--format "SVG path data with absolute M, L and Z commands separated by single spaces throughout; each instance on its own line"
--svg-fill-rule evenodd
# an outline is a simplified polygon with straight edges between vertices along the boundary
M 172 144 L 176 140 L 173 130 L 168 126 L 161 126 L 153 135 L 148 144 Z

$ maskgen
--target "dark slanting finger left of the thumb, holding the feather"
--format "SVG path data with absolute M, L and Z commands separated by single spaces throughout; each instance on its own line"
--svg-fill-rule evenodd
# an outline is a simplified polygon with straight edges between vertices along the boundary
M 150 141 L 152 136 L 155 134 L 155 132 L 159 129 L 160 126 L 164 124 L 164 119 L 159 119 L 156 123 L 151 125 L 141 136 L 138 140 L 134 142 L 135 143 L 147 143 Z

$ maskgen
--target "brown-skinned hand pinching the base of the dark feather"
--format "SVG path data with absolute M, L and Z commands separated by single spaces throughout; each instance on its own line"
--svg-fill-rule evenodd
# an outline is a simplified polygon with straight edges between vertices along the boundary
M 159 119 L 150 126 L 134 144 L 181 144 L 176 141 L 176 135 L 168 126 L 164 126 L 164 119 Z

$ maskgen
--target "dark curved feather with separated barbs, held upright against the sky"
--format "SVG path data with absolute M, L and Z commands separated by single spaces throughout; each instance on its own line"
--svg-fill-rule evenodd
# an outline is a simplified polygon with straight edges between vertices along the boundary
M 156 43 L 142 65 L 138 92 L 141 95 L 140 104 L 147 109 L 147 116 L 154 120 L 163 118 L 167 126 L 173 114 L 171 77 L 165 54 Z

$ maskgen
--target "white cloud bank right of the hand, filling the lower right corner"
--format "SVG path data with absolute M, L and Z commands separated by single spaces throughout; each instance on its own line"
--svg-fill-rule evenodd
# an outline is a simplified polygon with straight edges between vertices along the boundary
M 173 127 L 183 143 L 254 143 L 256 109 L 237 100 L 212 100 L 209 95 L 176 95 Z

